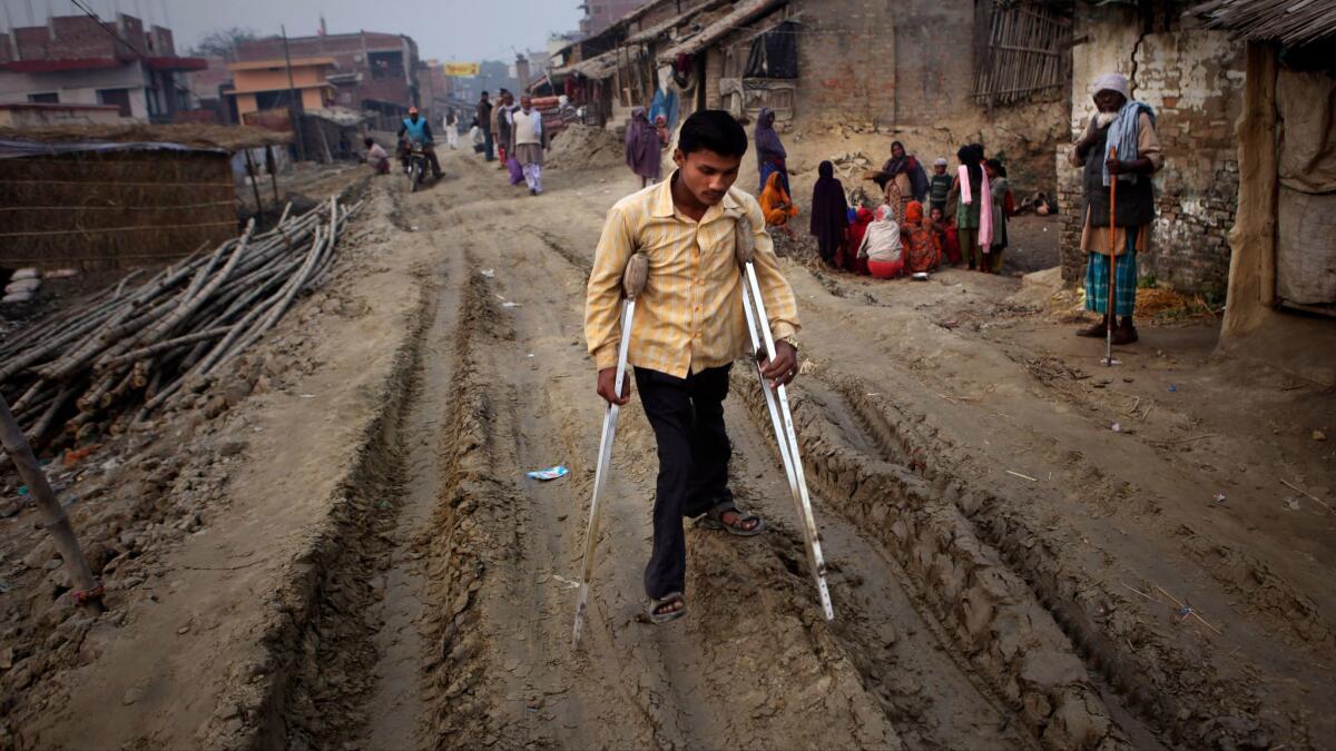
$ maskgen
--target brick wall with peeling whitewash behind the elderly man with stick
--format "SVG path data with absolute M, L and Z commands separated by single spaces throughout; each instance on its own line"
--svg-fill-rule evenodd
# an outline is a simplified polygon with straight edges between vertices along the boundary
M 1173 24 L 1141 33 L 1142 23 L 1129 9 L 1078 5 L 1074 36 L 1086 41 L 1073 55 L 1071 138 L 1094 114 L 1094 78 L 1110 71 L 1128 75 L 1133 96 L 1156 110 L 1165 155 L 1165 167 L 1156 175 L 1158 216 L 1138 271 L 1184 293 L 1221 295 L 1238 198 L 1233 123 L 1242 100 L 1242 45 L 1222 32 Z M 1065 152 L 1066 146 L 1058 150 L 1057 162 L 1058 200 L 1066 216 L 1062 274 L 1077 281 L 1085 273 L 1081 175 L 1067 166 Z

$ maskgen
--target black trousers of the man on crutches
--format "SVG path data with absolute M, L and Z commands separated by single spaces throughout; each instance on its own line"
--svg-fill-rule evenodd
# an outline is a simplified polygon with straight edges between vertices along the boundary
M 724 397 L 728 396 L 731 369 L 731 365 L 709 367 L 685 378 L 636 369 L 640 404 L 659 442 L 655 545 L 645 567 L 645 593 L 651 597 L 684 591 L 687 535 L 683 517 L 732 504 L 733 494 L 728 489 L 732 445 L 724 430 Z

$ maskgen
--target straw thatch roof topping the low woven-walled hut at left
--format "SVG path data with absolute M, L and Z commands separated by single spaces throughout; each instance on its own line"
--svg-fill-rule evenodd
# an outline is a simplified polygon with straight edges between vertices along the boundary
M 43 126 L 40 128 L 0 128 L 0 140 L 37 143 L 174 143 L 192 148 L 240 151 L 293 142 L 291 134 L 250 126 L 150 126 L 126 123 L 116 126 Z

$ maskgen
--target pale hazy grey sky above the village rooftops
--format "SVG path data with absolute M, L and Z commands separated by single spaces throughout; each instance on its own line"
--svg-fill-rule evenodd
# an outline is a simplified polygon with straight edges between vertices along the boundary
M 516 49 L 546 47 L 552 32 L 578 25 L 580 0 L 81 0 L 104 19 L 118 9 L 167 25 L 184 49 L 215 28 L 247 27 L 262 35 L 287 24 L 294 36 L 315 33 L 323 13 L 330 33 L 358 29 L 406 33 L 424 57 L 473 61 L 514 59 Z M 76 12 L 71 0 L 0 0 L 8 28 Z M 163 21 L 167 23 L 163 23 Z

